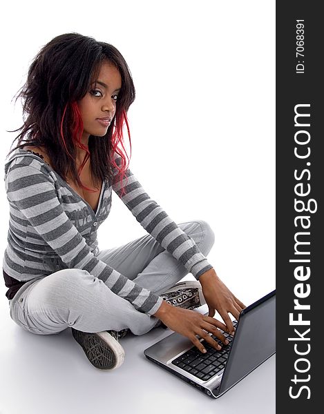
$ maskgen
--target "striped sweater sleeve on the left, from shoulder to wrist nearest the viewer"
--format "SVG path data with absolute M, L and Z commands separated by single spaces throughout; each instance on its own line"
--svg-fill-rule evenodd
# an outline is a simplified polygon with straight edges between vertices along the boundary
M 87 270 L 98 277 L 116 295 L 130 302 L 137 311 L 153 315 L 162 297 L 151 293 L 121 275 L 90 251 L 61 206 L 55 190 L 55 178 L 29 161 L 12 163 L 6 175 L 9 203 L 26 217 L 30 225 L 57 253 L 68 268 Z

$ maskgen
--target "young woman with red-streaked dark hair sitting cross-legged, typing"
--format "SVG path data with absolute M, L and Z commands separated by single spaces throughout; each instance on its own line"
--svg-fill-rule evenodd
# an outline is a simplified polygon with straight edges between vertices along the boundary
M 118 339 L 159 324 L 220 348 L 218 328 L 245 306 L 207 261 L 214 236 L 202 220 L 175 224 L 126 166 L 122 130 L 135 99 L 126 61 L 108 43 L 78 33 L 44 46 L 18 97 L 23 126 L 5 167 L 10 205 L 3 275 L 10 316 L 40 335 L 70 327 L 90 362 L 124 361 Z M 14 142 L 15 142 L 14 141 Z M 122 148 L 120 148 L 122 146 Z M 149 233 L 99 250 L 97 229 L 112 190 Z M 195 282 L 177 282 L 187 273 Z M 193 311 L 208 304 L 209 315 Z M 217 310 L 225 324 L 213 318 Z

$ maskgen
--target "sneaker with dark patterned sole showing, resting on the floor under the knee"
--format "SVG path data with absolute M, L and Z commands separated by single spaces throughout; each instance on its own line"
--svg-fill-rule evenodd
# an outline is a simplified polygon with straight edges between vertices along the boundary
M 108 331 L 86 333 L 72 328 L 72 334 L 95 368 L 113 370 L 124 362 L 125 352 L 118 337 Z

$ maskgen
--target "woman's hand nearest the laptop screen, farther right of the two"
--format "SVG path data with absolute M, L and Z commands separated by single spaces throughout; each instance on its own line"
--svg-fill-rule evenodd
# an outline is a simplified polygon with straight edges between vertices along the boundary
M 234 326 L 229 313 L 238 320 L 240 311 L 246 306 L 231 293 L 231 290 L 220 280 L 213 268 L 203 273 L 199 277 L 199 282 L 202 285 L 202 294 L 209 308 L 209 316 L 213 317 L 215 310 L 218 311 L 229 333 L 234 335 Z

